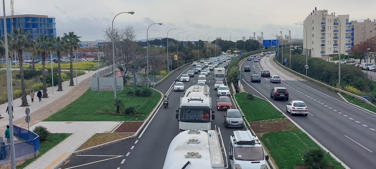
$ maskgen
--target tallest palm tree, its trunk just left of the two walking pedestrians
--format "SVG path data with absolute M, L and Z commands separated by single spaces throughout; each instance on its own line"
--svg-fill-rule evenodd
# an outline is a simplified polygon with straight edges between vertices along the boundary
M 11 50 L 17 51 L 18 54 L 18 63 L 20 64 L 20 79 L 21 79 L 21 106 L 27 106 L 29 103 L 27 103 L 26 98 L 26 90 L 25 90 L 25 78 L 24 78 L 24 72 L 23 72 L 23 58 L 22 58 L 22 52 L 24 49 L 30 48 L 31 45 L 31 39 L 30 37 L 30 30 L 24 31 L 22 28 L 13 28 L 11 31 L 11 39 L 9 39 L 9 48 Z

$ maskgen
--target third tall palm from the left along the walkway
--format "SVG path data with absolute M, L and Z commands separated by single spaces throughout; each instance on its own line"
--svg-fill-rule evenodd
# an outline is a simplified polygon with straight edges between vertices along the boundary
M 60 36 L 56 36 L 54 39 L 53 39 L 53 44 L 55 44 L 53 46 L 53 51 L 56 52 L 56 55 L 58 55 L 58 78 L 59 78 L 59 85 L 58 85 L 58 91 L 63 91 L 63 87 L 61 85 L 61 52 L 64 52 L 64 51 L 68 51 L 68 49 L 70 48 L 70 46 L 65 43 L 65 41 L 60 37 Z

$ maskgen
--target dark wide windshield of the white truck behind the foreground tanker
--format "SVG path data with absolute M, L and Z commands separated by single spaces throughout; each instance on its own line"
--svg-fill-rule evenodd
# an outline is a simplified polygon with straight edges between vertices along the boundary
M 210 109 L 203 106 L 182 106 L 180 109 L 180 121 L 189 123 L 209 123 Z

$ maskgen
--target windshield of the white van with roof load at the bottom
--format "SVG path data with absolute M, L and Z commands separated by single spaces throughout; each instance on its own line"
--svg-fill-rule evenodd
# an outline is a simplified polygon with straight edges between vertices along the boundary
M 234 157 L 242 161 L 261 161 L 264 160 L 264 151 L 262 147 L 234 147 Z

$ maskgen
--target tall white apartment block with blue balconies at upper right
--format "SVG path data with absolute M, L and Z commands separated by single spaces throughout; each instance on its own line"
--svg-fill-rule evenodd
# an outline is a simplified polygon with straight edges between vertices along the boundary
M 346 50 L 352 46 L 349 15 L 335 15 L 339 20 L 332 15 L 335 12 L 315 9 L 303 21 L 307 28 L 303 28 L 303 49 L 309 56 L 329 60 L 339 53 L 347 55 Z

